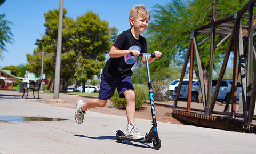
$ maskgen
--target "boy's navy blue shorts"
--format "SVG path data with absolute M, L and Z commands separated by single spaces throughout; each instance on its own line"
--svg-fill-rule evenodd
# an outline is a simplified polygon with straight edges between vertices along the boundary
M 124 98 L 123 92 L 126 90 L 134 90 L 132 79 L 130 76 L 123 78 L 105 78 L 104 74 L 101 74 L 99 99 L 110 99 L 117 88 L 120 98 Z

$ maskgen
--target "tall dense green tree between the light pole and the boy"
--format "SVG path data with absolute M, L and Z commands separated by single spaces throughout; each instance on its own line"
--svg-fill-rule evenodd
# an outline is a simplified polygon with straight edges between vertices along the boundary
M 110 32 L 111 30 L 111 32 Z M 86 12 L 76 19 L 75 46 L 77 54 L 76 79 L 85 81 L 99 75 L 99 69 L 105 64 L 105 54 L 110 50 L 111 33 L 117 31 L 108 28 L 108 22 L 101 21 L 98 14 Z M 112 36 L 113 37 L 113 36 Z

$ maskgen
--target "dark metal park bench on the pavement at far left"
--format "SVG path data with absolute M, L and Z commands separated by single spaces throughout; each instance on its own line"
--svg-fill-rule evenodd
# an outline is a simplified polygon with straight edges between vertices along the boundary
M 37 95 L 38 95 L 38 99 L 39 99 L 39 90 L 40 90 L 42 81 L 43 81 L 43 79 L 38 79 L 38 80 L 36 80 L 36 82 L 31 82 L 31 83 L 24 82 L 24 83 L 22 83 L 23 96 L 25 95 L 25 91 L 27 91 L 27 96 L 26 96 L 26 99 L 27 99 L 29 90 L 33 90 L 34 98 L 35 98 L 34 92 L 38 91 Z M 33 85 L 33 87 L 30 87 L 30 85 Z M 23 96 L 22 96 L 22 98 L 23 98 Z

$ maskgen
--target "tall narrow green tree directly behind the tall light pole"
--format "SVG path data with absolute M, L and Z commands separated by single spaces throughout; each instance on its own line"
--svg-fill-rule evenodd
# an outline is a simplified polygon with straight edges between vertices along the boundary
M 75 61 L 76 53 L 75 47 L 72 45 L 74 39 L 74 26 L 75 22 L 73 19 L 66 17 L 67 10 L 63 9 L 63 27 L 62 27 L 62 48 L 61 48 L 61 85 L 63 90 L 67 90 L 69 82 L 74 79 L 75 74 Z M 46 36 L 44 36 L 46 44 L 46 56 L 45 65 L 49 68 L 49 75 L 54 77 L 55 72 L 55 59 L 57 50 L 57 38 L 58 38 L 58 21 L 59 21 L 59 10 L 44 13 L 46 23 Z M 52 67 L 53 66 L 53 67 Z M 53 80 L 53 79 L 52 79 Z

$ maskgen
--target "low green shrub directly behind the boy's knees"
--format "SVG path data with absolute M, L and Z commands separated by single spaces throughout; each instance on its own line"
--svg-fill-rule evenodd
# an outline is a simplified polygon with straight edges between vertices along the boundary
M 133 85 L 134 86 L 134 92 L 136 95 L 135 98 L 135 109 L 140 110 L 142 107 L 142 104 L 146 102 L 146 100 L 149 98 L 148 88 L 145 85 Z M 125 98 L 119 98 L 117 90 L 115 90 L 115 93 L 113 97 L 110 99 L 113 103 L 113 107 L 117 109 L 126 109 L 126 100 Z

